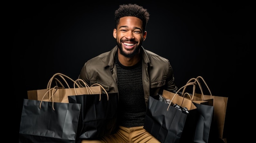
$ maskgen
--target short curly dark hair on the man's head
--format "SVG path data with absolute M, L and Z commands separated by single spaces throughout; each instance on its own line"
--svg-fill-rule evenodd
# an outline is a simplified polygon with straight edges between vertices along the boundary
M 149 20 L 149 13 L 147 9 L 137 5 L 137 4 L 122 4 L 119 5 L 119 8 L 115 11 L 115 21 L 116 26 L 119 24 L 119 20 L 125 16 L 135 16 L 142 20 L 143 22 L 143 31 L 146 30 L 146 25 Z

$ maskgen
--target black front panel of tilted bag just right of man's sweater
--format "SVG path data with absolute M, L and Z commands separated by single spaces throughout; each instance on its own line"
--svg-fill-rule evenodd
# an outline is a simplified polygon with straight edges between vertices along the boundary
M 187 114 L 169 104 L 149 97 L 144 129 L 161 143 L 178 143 Z

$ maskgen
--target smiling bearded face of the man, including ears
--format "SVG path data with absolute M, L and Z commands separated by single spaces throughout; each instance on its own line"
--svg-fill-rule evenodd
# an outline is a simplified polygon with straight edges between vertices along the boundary
M 117 46 L 125 57 L 133 57 L 139 53 L 142 42 L 146 39 L 143 33 L 142 20 L 133 16 L 120 18 L 113 36 L 117 38 Z

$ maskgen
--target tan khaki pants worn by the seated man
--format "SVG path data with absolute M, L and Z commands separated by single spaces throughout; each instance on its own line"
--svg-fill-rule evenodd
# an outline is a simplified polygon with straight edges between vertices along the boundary
M 126 128 L 119 126 L 117 133 L 100 140 L 82 140 L 81 143 L 160 143 L 143 126 Z

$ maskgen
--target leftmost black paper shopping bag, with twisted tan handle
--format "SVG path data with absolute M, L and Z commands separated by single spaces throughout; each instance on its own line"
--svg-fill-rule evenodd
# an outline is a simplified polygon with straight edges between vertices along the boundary
M 77 103 L 24 99 L 19 143 L 75 143 L 80 110 Z

